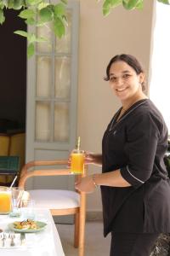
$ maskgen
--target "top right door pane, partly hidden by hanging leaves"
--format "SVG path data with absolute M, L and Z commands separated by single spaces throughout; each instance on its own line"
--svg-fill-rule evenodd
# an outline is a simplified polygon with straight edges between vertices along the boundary
M 56 39 L 56 53 L 71 53 L 71 13 L 67 14 L 68 26 L 65 26 L 65 36 Z

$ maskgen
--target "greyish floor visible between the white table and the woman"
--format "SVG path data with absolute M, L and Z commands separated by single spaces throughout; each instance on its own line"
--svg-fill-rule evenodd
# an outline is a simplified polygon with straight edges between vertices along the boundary
M 77 256 L 73 247 L 73 224 L 56 224 L 65 256 Z M 99 221 L 86 223 L 85 256 L 109 256 L 111 236 L 104 238 L 103 224 Z

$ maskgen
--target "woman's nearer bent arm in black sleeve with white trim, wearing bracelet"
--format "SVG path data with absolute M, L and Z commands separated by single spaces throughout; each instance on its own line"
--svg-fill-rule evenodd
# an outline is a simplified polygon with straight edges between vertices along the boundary
M 158 122 L 158 121 L 157 121 Z M 83 177 L 76 188 L 86 193 L 93 192 L 96 185 L 139 188 L 153 172 L 157 143 L 161 126 L 150 113 L 140 113 L 128 125 L 128 141 L 124 151 L 128 156 L 127 166 L 121 169 Z

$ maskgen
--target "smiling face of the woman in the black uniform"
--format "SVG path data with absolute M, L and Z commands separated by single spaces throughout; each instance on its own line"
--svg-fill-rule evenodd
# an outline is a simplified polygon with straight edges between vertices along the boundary
M 111 89 L 121 101 L 129 100 L 142 91 L 142 82 L 144 82 L 144 73 L 138 75 L 133 67 L 124 61 L 112 63 L 110 68 Z

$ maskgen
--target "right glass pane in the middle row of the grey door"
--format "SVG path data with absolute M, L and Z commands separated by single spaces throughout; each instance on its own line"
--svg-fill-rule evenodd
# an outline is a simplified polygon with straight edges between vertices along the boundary
M 55 59 L 55 97 L 69 98 L 71 86 L 71 60 L 68 57 Z

